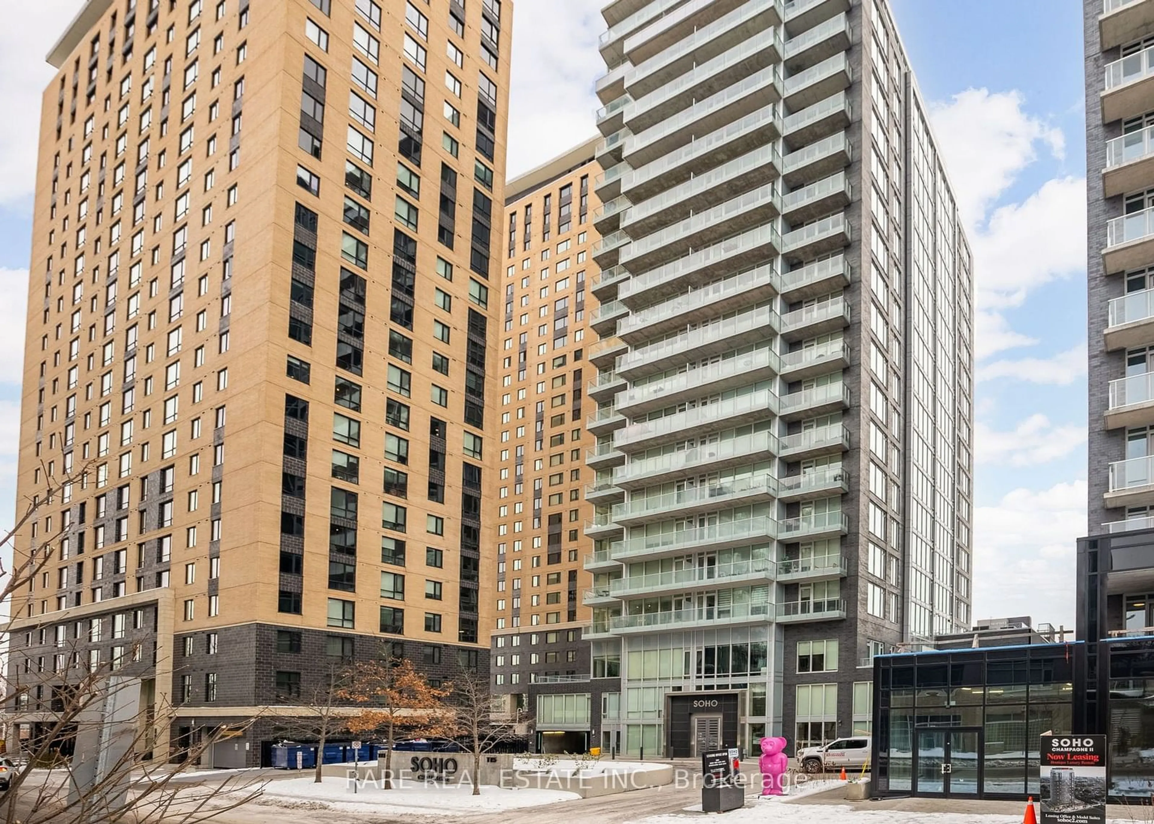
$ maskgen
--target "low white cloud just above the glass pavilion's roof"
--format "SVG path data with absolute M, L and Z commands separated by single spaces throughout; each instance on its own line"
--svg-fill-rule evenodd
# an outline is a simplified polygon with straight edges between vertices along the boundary
M 1031 615 L 1073 627 L 1076 541 L 1086 481 L 1014 489 L 974 510 L 974 619 Z

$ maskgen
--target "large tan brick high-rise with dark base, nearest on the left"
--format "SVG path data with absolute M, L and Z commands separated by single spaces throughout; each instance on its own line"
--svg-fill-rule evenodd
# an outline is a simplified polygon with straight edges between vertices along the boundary
M 17 539 L 21 732 L 93 665 L 185 740 L 385 645 L 485 666 L 511 16 L 89 0 L 53 47 L 18 494 L 74 480 Z

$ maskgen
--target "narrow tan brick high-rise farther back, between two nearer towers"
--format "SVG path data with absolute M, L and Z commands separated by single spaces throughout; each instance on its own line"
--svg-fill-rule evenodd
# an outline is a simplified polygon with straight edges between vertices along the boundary
M 583 569 L 594 530 L 585 501 L 606 421 L 585 396 L 595 373 L 599 308 L 589 284 L 600 271 L 591 249 L 600 201 L 593 181 L 597 138 L 505 185 L 501 284 L 497 557 L 490 650 L 494 691 L 509 710 L 527 709 L 549 749 L 584 751 L 587 710 L 554 712 L 552 686 L 590 680 L 583 627 L 591 576 Z M 612 324 L 609 325 L 612 329 Z M 605 429 L 612 432 L 612 429 Z M 560 688 L 560 687 L 557 687 Z M 539 697 L 539 694 L 545 695 Z M 584 702 L 589 702 L 585 696 Z M 570 703 L 572 699 L 570 698 Z M 584 706 L 584 704 L 583 704 Z M 570 707 L 571 709 L 571 707 Z

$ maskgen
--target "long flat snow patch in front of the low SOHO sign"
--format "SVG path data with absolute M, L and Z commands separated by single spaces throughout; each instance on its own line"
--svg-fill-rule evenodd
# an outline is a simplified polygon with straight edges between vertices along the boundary
M 263 804 L 292 807 L 300 802 L 320 802 L 337 811 L 377 812 L 404 815 L 421 811 L 441 816 L 465 815 L 482 810 L 515 810 L 522 807 L 552 804 L 580 797 L 577 793 L 554 789 L 501 789 L 481 787 L 480 795 L 473 795 L 472 785 L 439 785 L 422 781 L 396 781 L 394 789 L 380 789 L 372 781 L 358 785 L 353 793 L 351 781 L 327 777 L 322 784 L 312 778 L 291 778 L 271 781 L 261 796 Z M 312 806 L 312 804 L 310 804 Z

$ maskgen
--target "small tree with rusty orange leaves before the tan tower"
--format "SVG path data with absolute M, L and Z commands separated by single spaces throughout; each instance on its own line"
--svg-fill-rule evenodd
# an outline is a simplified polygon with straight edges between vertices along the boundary
M 452 731 L 444 699 L 452 684 L 433 687 L 407 658 L 387 656 L 353 665 L 342 695 L 365 709 L 349 719 L 354 733 L 380 733 L 384 739 L 382 787 L 392 789 L 392 747 L 397 731 L 415 736 L 443 736 Z

